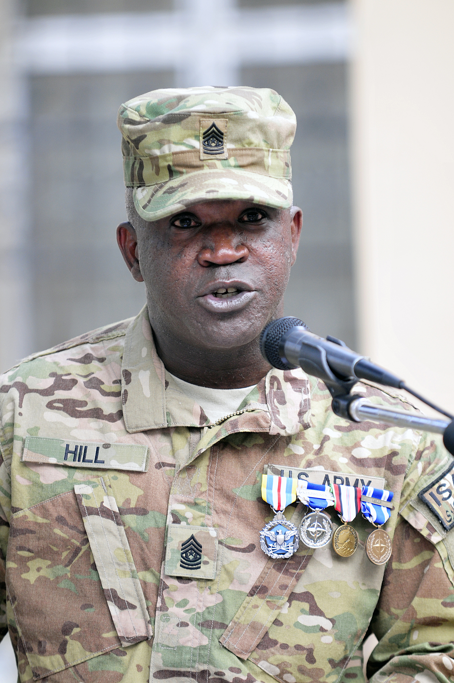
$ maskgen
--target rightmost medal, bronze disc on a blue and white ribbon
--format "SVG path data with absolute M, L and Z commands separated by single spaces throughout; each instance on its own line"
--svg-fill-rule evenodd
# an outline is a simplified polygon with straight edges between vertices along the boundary
M 386 524 L 391 516 L 392 491 L 384 488 L 373 488 L 373 486 L 363 486 L 361 494 L 361 512 L 363 516 L 377 527 L 371 532 L 366 540 L 367 557 L 374 564 L 386 564 L 392 553 L 392 543 L 382 525 Z

